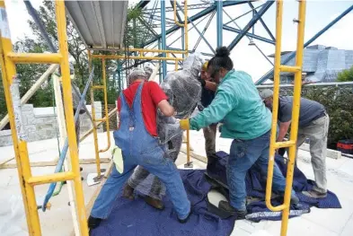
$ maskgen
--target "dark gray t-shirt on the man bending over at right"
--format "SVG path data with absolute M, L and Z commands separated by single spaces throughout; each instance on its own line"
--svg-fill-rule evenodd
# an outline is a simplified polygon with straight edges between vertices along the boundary
M 293 97 L 280 96 L 278 120 L 288 122 L 292 118 Z M 306 127 L 317 118 L 325 114 L 325 107 L 317 101 L 311 101 L 304 98 L 300 99 L 299 127 Z

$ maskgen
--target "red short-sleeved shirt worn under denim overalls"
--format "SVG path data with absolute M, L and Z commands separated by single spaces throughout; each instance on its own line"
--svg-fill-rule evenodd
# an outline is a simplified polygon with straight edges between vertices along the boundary
M 123 91 L 128 106 L 131 108 L 135 98 L 138 86 L 141 82 L 131 83 L 126 90 Z M 167 100 L 158 83 L 153 81 L 146 82 L 141 92 L 142 115 L 145 121 L 145 127 L 150 135 L 157 136 L 157 105 L 160 101 Z M 121 101 L 118 99 L 118 111 L 121 109 Z

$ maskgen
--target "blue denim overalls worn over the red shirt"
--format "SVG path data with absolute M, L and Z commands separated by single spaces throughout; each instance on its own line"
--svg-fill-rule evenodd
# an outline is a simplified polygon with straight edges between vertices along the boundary
M 164 158 L 165 152 L 159 144 L 159 139 L 146 131 L 141 109 L 143 85 L 144 83 L 141 83 L 137 89 L 132 108 L 129 108 L 121 92 L 120 127 L 114 131 L 114 139 L 122 151 L 124 172 L 120 174 L 115 166 L 113 167 L 110 178 L 94 202 L 91 215 L 95 218 L 108 218 L 122 186 L 137 165 L 143 166 L 163 181 L 179 219 L 185 219 L 190 213 L 190 201 L 179 171 L 171 159 Z

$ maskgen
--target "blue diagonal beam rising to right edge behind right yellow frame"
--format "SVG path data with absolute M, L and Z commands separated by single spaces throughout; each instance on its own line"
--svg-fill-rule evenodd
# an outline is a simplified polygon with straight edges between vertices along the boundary
M 348 13 L 350 13 L 353 10 L 353 4 L 351 6 L 349 6 L 349 8 L 344 11 L 343 13 L 341 13 L 336 19 L 334 19 L 332 22 L 330 22 L 328 25 L 326 25 L 325 27 L 323 27 L 323 29 L 321 31 L 318 31 L 312 39 L 307 40 L 304 43 L 304 48 L 308 47 L 314 40 L 316 40 L 317 38 L 319 38 L 322 33 L 324 33 L 325 31 L 329 30 L 335 23 L 340 22 L 340 19 L 342 19 L 345 15 L 347 15 Z M 286 58 L 286 60 L 284 60 L 282 62 L 283 65 L 286 65 L 291 59 L 293 59 L 294 57 L 296 57 L 296 51 L 291 52 L 289 54 L 289 56 Z M 263 75 L 260 80 L 258 80 L 255 84 L 256 85 L 260 85 L 261 83 L 264 83 L 265 81 L 267 81 L 270 77 L 273 77 L 273 68 L 266 73 L 265 75 Z

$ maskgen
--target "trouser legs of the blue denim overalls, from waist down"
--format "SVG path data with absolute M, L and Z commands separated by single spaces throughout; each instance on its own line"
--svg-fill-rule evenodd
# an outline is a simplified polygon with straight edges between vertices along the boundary
M 120 174 L 115 165 L 101 192 L 94 202 L 91 215 L 95 218 L 107 219 L 114 201 L 125 182 L 133 173 L 137 165 L 143 166 L 150 173 L 161 179 L 166 186 L 167 193 L 172 200 L 179 219 L 185 219 L 190 213 L 190 201 L 181 181 L 181 175 L 171 159 L 164 157 L 160 146 L 140 155 L 123 155 L 124 172 Z

